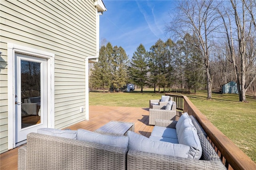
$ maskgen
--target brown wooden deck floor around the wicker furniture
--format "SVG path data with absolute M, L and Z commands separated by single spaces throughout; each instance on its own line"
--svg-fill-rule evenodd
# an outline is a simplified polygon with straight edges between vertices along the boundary
M 90 106 L 89 121 L 82 121 L 67 128 L 94 131 L 110 121 L 126 121 L 135 123 L 135 132 L 149 137 L 153 126 L 148 125 L 148 110 L 149 108 Z M 18 148 L 0 154 L 1 170 L 16 170 L 17 168 Z

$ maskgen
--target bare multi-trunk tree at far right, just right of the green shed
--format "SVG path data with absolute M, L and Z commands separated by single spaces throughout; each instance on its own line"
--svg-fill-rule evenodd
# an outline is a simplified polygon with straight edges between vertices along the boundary
M 256 79 L 255 1 L 230 0 L 232 8 L 219 10 L 229 48 L 228 60 L 232 63 L 238 86 L 239 101 L 246 101 L 246 91 Z M 234 23 L 233 23 L 234 20 Z M 233 29 L 236 32 L 233 32 Z M 237 51 L 236 51 L 237 49 Z

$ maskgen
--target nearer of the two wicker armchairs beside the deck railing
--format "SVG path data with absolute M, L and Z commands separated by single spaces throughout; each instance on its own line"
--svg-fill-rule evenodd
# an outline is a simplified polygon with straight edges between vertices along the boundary
M 149 109 L 149 125 L 155 125 L 156 119 L 176 120 L 176 102 L 172 102 L 172 109 L 165 110 L 166 106 L 153 105 L 153 109 Z

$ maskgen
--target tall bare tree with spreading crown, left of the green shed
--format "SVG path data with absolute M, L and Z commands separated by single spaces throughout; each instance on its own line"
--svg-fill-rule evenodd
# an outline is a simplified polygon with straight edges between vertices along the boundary
M 218 2 L 186 0 L 179 1 L 178 10 L 174 20 L 167 26 L 167 30 L 176 33 L 183 38 L 186 33 L 195 34 L 199 40 L 198 51 L 204 59 L 204 69 L 206 73 L 207 99 L 212 98 L 212 79 L 210 73 L 210 48 L 212 47 L 212 36 L 218 26 L 216 21 L 216 8 Z

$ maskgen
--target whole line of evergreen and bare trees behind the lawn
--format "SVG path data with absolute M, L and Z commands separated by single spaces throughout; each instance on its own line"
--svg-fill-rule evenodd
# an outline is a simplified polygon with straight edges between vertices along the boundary
M 101 46 L 90 84 L 102 89 L 120 89 L 126 83 L 164 91 L 171 88 L 208 91 L 229 81 L 238 86 L 239 100 L 256 92 L 256 2 L 178 1 L 166 24 L 170 37 L 159 39 L 146 51 L 140 44 L 128 59 L 122 47 Z

